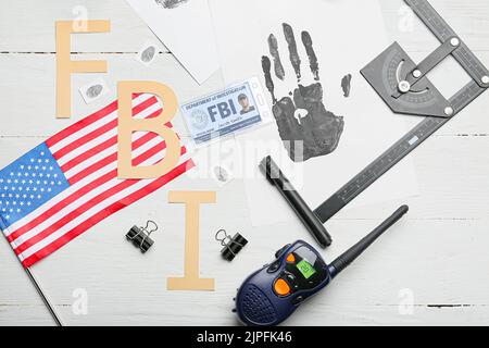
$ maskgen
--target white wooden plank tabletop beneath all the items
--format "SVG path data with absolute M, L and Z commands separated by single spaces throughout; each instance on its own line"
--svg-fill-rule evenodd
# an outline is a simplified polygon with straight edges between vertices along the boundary
M 368 0 L 373 1 L 373 0 Z M 487 0 L 432 0 L 435 8 L 489 65 Z M 400 0 L 381 0 L 386 30 L 415 59 L 436 47 L 427 32 L 401 33 Z M 153 34 L 124 0 L 0 0 L 0 166 L 9 164 L 72 121 L 54 120 L 54 21 L 70 20 L 84 7 L 89 18 L 109 18 L 110 34 L 77 35 L 73 51 L 80 59 L 104 59 L 103 78 L 112 96 L 87 105 L 77 91 L 99 75 L 73 77 L 73 115 L 86 115 L 115 96 L 122 79 L 159 80 L 179 100 L 221 87 L 216 73 L 198 86 L 164 49 L 146 67 L 135 54 Z M 163 46 L 162 46 L 163 47 Z M 447 95 L 467 77 L 434 73 Z M 340 212 L 327 227 L 335 244 L 331 260 L 401 203 L 410 214 L 353 264 L 336 284 L 290 325 L 468 325 L 489 324 L 489 95 L 412 154 L 421 195 L 402 201 Z M 162 189 L 100 223 L 33 269 L 68 325 L 229 325 L 231 298 L 251 271 L 283 245 L 304 238 L 297 224 L 252 227 L 242 182 L 220 188 L 213 181 L 178 181 L 171 189 L 217 190 L 217 204 L 204 206 L 201 219 L 201 275 L 216 279 L 213 293 L 167 291 L 166 277 L 183 272 L 184 208 L 167 203 Z M 277 195 L 277 200 L 280 198 Z M 225 213 L 224 213 L 225 212 Z M 284 213 L 290 213 L 284 211 Z M 133 224 L 158 221 L 163 233 L 146 256 L 125 241 Z M 213 240 L 221 227 L 240 231 L 250 245 L 233 263 L 220 259 Z M 78 291 L 88 295 L 88 312 L 76 314 Z M 74 297 L 75 295 L 75 297 Z M 410 303 L 413 306 L 404 306 Z M 52 325 L 53 322 L 4 238 L 0 238 L 0 325 Z

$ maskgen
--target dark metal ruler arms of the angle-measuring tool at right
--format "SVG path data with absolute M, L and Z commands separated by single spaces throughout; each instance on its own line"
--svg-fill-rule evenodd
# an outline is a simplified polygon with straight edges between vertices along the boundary
M 428 26 L 434 35 L 443 44 L 456 34 L 435 11 L 426 0 L 404 0 L 419 18 Z M 460 38 L 459 38 L 460 40 Z M 489 73 L 484 64 L 475 57 L 467 46 L 460 40 L 459 47 L 451 53 L 464 67 L 473 80 L 463 87 L 455 96 L 449 99 L 452 114 L 450 117 L 427 116 L 399 141 L 380 154 L 374 162 L 354 176 L 328 200 L 314 210 L 314 214 L 325 223 L 363 190 L 371 186 L 381 175 L 399 163 L 411 151 L 429 138 L 436 130 L 443 126 L 452 116 L 461 112 L 474 99 L 480 96 L 489 87 Z M 429 83 L 429 82 L 427 82 Z M 372 83 L 371 83 L 372 84 Z M 373 85 L 373 84 L 372 84 Z M 376 86 L 373 85 L 374 88 Z M 432 86 L 431 86 L 432 87 Z M 377 89 L 377 88 L 376 88 Z M 378 91 L 378 90 L 377 90 Z M 383 97 L 385 98 L 385 97 Z M 413 108 L 415 110 L 415 108 Z M 394 111 L 396 112 L 396 111 Z

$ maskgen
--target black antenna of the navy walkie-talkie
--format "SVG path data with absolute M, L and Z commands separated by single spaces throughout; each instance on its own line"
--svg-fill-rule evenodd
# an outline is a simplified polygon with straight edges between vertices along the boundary
M 366 235 L 362 240 L 355 244 L 353 247 L 344 251 L 335 261 L 329 264 L 329 272 L 331 277 L 335 277 L 343 271 L 350 263 L 352 263 L 363 251 L 365 251 L 380 235 L 389 229 L 394 223 L 397 223 L 405 213 L 408 213 L 409 207 L 402 206 L 391 216 L 384 221 L 377 228 Z

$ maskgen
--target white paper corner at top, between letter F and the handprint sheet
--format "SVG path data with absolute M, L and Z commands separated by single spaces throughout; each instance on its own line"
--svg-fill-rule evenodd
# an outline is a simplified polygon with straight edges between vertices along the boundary
M 127 0 L 142 21 L 202 84 L 220 67 L 208 0 Z

